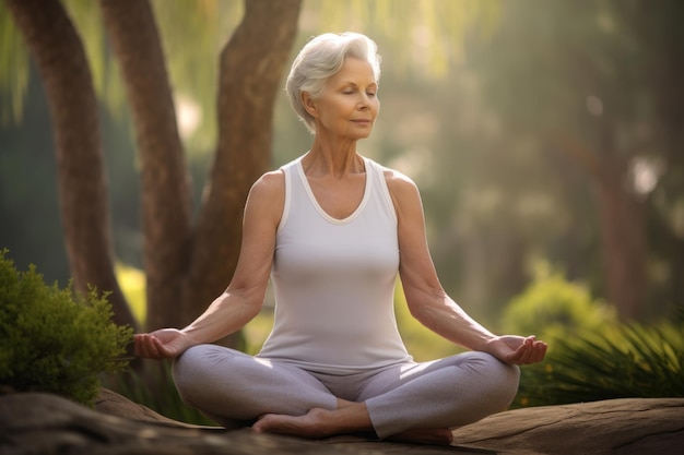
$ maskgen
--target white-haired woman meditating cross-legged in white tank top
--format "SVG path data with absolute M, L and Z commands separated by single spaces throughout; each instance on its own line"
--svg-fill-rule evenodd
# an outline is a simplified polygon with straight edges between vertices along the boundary
M 286 88 L 314 133 L 310 151 L 253 184 L 225 292 L 181 331 L 135 336 L 139 356 L 176 358 L 184 400 L 222 424 L 449 443 L 451 428 L 510 404 L 517 364 L 544 357 L 544 343 L 496 336 L 446 295 L 416 185 L 358 154 L 379 111 L 379 74 L 375 43 L 359 34 L 302 49 Z M 392 310 L 398 274 L 411 313 L 471 351 L 412 360 Z M 259 313 L 269 278 L 275 322 L 259 355 L 210 345 Z

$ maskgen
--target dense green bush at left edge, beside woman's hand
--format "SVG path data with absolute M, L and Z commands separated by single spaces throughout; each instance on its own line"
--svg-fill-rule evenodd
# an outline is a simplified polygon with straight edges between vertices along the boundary
M 92 405 L 98 374 L 126 366 L 120 356 L 130 327 L 110 321 L 111 307 L 95 289 L 47 286 L 35 266 L 17 272 L 0 253 L 0 384 L 48 392 Z

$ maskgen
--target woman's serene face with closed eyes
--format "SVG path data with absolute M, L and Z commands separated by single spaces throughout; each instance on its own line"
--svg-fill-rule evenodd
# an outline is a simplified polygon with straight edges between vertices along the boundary
M 325 85 L 318 99 L 305 99 L 316 118 L 316 133 L 323 131 L 351 140 L 368 137 L 380 110 L 378 84 L 370 63 L 347 58 Z

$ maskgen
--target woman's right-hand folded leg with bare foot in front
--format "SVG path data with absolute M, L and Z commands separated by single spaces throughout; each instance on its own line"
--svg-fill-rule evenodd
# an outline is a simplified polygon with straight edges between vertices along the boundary
M 468 352 L 433 362 L 396 366 L 370 376 L 356 402 L 304 416 L 267 415 L 257 431 L 320 438 L 374 429 L 381 439 L 449 444 L 451 428 L 504 409 L 519 370 L 490 355 Z

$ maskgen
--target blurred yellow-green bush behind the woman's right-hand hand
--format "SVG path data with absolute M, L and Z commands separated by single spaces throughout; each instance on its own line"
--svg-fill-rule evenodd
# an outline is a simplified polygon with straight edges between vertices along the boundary
M 506 308 L 504 331 L 554 339 L 583 330 L 597 330 L 614 322 L 613 309 L 593 300 L 579 284 L 561 274 L 541 270 L 533 283 Z

